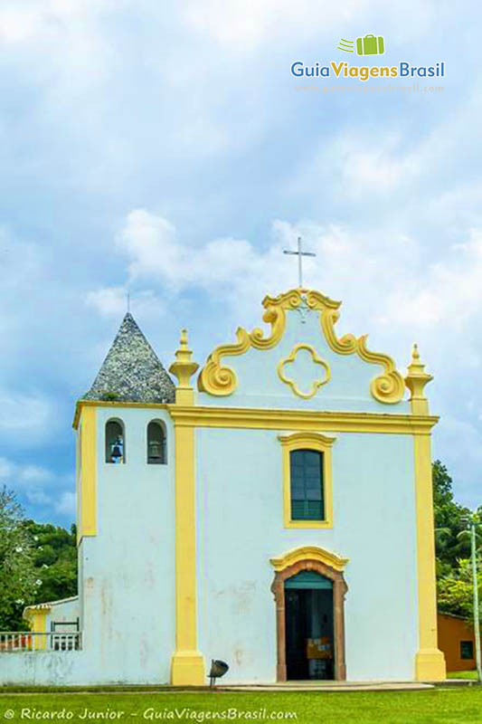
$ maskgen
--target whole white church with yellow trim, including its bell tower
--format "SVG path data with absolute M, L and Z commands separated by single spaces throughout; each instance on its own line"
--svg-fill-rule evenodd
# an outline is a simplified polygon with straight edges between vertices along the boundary
M 183 331 L 176 385 L 126 315 L 74 418 L 79 596 L 29 607 L 3 681 L 445 678 L 431 376 L 338 338 L 317 291 L 263 306 L 202 369 Z

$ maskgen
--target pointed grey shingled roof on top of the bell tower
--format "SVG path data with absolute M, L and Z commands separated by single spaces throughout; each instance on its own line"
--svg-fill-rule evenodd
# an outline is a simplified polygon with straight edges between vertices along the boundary
M 175 402 L 175 384 L 128 312 L 86 400 Z

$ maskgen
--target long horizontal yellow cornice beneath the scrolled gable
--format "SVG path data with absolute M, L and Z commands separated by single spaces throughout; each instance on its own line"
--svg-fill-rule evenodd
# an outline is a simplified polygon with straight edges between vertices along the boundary
M 430 434 L 432 415 L 166 405 L 176 425 L 339 433 Z

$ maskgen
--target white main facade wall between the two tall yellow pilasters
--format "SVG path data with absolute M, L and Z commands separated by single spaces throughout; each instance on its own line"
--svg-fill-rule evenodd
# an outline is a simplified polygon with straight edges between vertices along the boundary
M 284 529 L 278 433 L 196 433 L 199 647 L 207 662 L 230 664 L 226 681 L 275 681 L 269 558 L 303 545 L 349 558 L 347 678 L 413 679 L 418 617 L 411 436 L 334 434 L 334 528 Z

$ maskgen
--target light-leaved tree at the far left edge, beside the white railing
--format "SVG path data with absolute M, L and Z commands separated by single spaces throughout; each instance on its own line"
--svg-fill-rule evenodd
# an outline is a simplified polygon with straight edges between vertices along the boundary
M 32 538 L 13 491 L 0 491 L 0 630 L 25 628 L 24 606 L 42 585 L 33 566 Z

